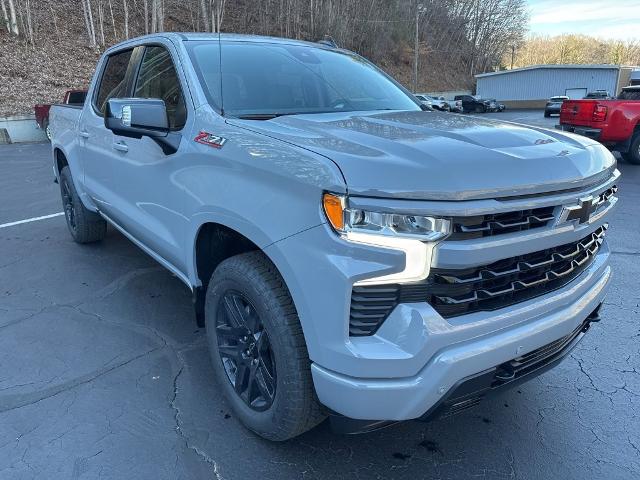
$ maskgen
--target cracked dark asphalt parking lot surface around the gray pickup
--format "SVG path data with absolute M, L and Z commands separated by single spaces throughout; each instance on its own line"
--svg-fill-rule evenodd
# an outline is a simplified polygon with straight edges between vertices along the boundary
M 189 291 L 121 234 L 0 229 L 0 478 L 640 478 L 640 167 L 620 168 L 603 321 L 563 363 L 457 417 L 279 444 L 233 417 Z M 0 146 L 0 178 L 0 224 L 61 210 L 48 145 Z

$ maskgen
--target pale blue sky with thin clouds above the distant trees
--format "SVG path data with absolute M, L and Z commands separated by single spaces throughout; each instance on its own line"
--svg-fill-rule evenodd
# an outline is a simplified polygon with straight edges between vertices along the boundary
M 640 39 L 640 0 L 527 0 L 530 33 Z

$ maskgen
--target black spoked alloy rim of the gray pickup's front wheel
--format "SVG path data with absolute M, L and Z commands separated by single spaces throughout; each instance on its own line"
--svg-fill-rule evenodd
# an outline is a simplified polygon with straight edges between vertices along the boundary
M 240 292 L 220 299 L 216 316 L 218 352 L 236 394 L 252 410 L 268 410 L 276 395 L 276 365 L 269 336 L 256 308 Z

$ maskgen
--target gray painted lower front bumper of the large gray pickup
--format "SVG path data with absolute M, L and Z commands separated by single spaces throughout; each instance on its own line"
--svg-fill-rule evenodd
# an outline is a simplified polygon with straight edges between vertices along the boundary
M 432 415 L 447 398 L 460 396 L 455 391 L 466 380 L 495 371 L 498 366 L 581 328 L 604 300 L 611 277 L 605 258 L 597 259 L 592 267 L 564 291 L 524 302 L 517 306 L 518 312 L 504 313 L 530 315 L 530 321 L 443 348 L 417 375 L 401 379 L 354 378 L 312 364 L 318 398 L 333 411 L 352 419 L 401 421 Z M 556 308 L 536 315 L 550 301 Z

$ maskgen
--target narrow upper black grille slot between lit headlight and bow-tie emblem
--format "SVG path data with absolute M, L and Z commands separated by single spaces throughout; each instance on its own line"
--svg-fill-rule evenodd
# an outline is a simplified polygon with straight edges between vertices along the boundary
M 555 207 L 543 207 L 474 217 L 456 217 L 453 219 L 453 232 L 447 240 L 470 240 L 545 227 L 555 218 L 554 210 Z

